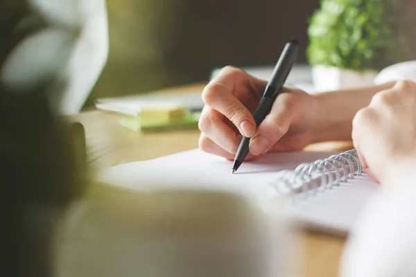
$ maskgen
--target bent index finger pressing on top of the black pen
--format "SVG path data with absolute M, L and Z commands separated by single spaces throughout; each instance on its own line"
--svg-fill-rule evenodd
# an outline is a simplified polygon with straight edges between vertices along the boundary
M 244 82 L 245 78 L 248 74 L 239 69 L 221 71 L 202 91 L 202 100 L 227 117 L 243 136 L 252 137 L 256 122 L 248 108 L 232 94 L 236 84 Z

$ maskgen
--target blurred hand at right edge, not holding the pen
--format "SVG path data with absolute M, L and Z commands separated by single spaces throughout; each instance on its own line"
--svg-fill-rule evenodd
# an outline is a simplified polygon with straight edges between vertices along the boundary
M 352 139 L 365 171 L 382 184 L 415 166 L 416 84 L 399 81 L 377 93 L 356 114 Z

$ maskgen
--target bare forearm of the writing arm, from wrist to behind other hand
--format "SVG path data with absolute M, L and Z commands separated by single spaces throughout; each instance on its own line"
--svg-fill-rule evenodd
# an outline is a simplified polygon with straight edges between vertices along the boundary
M 329 91 L 315 95 L 318 102 L 313 142 L 347 141 L 351 139 L 352 120 L 356 112 L 370 104 L 374 94 L 393 87 L 395 82 L 378 86 L 342 91 Z

